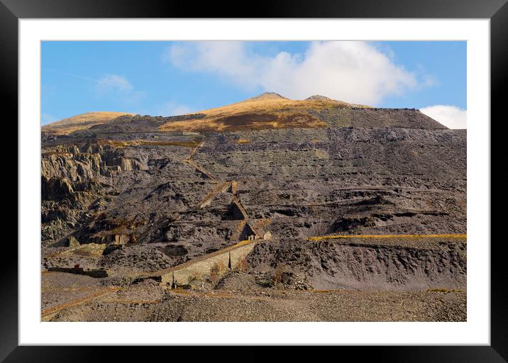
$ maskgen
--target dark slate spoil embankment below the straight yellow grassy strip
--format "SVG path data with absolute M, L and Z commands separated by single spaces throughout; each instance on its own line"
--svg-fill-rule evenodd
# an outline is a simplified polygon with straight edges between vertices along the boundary
M 282 265 L 307 274 L 315 289 L 465 289 L 466 239 L 348 238 L 256 245 L 255 269 Z

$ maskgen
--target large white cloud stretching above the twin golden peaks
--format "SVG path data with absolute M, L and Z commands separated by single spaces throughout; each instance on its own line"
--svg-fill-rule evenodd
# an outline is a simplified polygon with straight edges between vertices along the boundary
M 189 72 L 216 74 L 251 90 L 262 88 L 292 99 L 322 94 L 333 99 L 376 105 L 387 96 L 426 86 L 394 63 L 390 52 L 366 42 L 312 42 L 304 54 L 259 55 L 243 42 L 177 43 L 164 59 Z

